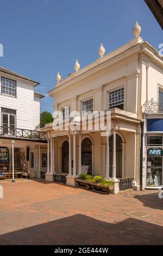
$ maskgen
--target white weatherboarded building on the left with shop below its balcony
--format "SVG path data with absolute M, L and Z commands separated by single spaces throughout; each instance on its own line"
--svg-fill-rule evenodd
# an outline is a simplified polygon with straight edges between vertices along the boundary
M 43 95 L 34 92 L 38 84 L 0 68 L 0 169 L 8 178 L 13 168 L 15 177 L 27 167 L 37 178 L 46 172 L 46 137 L 39 131 Z

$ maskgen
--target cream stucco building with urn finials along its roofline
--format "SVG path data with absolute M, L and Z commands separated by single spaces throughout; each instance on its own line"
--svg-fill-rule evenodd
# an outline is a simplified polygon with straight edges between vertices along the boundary
M 118 179 L 133 178 L 135 189 L 146 187 L 146 152 L 143 163 L 140 153 L 141 138 L 145 139 L 142 106 L 152 97 L 158 102 L 159 89 L 163 88 L 163 58 L 140 38 L 140 30 L 136 24 L 135 38 L 108 54 L 104 55 L 101 46 L 100 58 L 80 70 L 76 63 L 77 72 L 64 80 L 60 81 L 58 74 L 58 84 L 48 92 L 54 99 L 54 112 L 61 111 L 66 118 L 72 111 L 83 117 L 84 113 L 109 109 L 111 134 L 107 139 L 101 131 L 57 131 L 47 124 L 42 129 L 48 136 L 47 180 L 57 173 L 67 175 L 67 184 L 74 185 L 74 178 L 87 165 L 92 175 L 102 175 L 117 184 Z

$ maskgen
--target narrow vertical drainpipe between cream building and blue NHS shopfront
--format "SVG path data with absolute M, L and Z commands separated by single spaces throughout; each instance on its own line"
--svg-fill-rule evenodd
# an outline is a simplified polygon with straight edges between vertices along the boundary
M 140 190 L 143 190 L 142 176 L 143 176 L 143 132 L 144 132 L 145 122 L 141 122 L 141 145 L 140 145 Z

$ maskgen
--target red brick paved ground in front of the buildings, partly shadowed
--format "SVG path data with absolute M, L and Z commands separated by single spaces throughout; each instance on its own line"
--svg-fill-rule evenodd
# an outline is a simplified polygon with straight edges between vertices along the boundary
M 0 245 L 163 244 L 158 191 L 103 195 L 41 180 L 0 185 Z

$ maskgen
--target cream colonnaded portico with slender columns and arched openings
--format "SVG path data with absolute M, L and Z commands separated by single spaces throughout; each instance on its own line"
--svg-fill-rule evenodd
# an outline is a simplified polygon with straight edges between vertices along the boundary
M 47 124 L 48 156 L 46 180 L 53 181 L 54 174 L 66 176 L 66 184 L 75 186 L 75 179 L 83 172 L 83 166 L 89 166 L 91 175 L 101 175 L 114 181 L 115 193 L 121 178 L 133 177 L 133 186 L 139 189 L 140 120 L 132 113 L 114 108 L 111 111 L 111 130 L 109 136 L 103 131 L 53 130 Z M 138 150 L 139 151 L 139 150 Z

